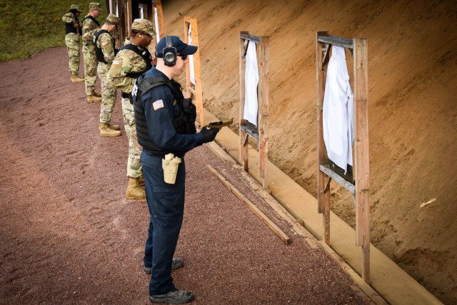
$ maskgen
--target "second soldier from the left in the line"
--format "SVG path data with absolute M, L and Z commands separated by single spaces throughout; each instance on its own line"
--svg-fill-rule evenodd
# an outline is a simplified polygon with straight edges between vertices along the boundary
M 91 2 L 89 4 L 89 14 L 81 21 L 83 32 L 83 57 L 84 57 L 84 79 L 86 80 L 86 95 L 87 102 L 93 103 L 94 101 L 101 101 L 101 94 L 95 92 L 95 82 L 97 80 L 97 66 L 99 61 L 95 55 L 93 36 L 90 39 L 84 39 L 84 34 L 94 31 L 100 27 L 99 21 L 96 17 L 100 14 L 100 4 Z

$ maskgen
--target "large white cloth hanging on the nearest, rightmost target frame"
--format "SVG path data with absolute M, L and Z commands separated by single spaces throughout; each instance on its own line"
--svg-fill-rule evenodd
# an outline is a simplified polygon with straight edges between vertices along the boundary
M 328 159 L 344 169 L 346 174 L 347 164 L 352 166 L 354 99 L 346 66 L 346 52 L 342 46 L 332 46 L 331 59 L 328 61 L 322 126 Z

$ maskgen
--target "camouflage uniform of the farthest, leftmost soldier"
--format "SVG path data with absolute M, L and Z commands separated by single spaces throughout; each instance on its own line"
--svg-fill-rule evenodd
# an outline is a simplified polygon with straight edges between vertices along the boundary
M 79 11 L 79 6 L 71 6 L 71 9 Z M 79 24 L 79 19 L 73 13 L 66 13 L 62 20 L 68 24 Z M 68 26 L 67 25 L 67 26 Z M 73 75 L 78 75 L 79 72 L 79 35 L 81 34 L 81 26 L 75 28 L 75 32 L 70 32 L 65 35 L 66 51 L 69 54 L 69 72 Z

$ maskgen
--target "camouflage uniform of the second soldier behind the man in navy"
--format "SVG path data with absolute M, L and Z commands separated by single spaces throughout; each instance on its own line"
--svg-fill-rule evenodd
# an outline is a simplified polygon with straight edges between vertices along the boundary
M 94 34 L 96 34 L 97 31 L 100 31 L 100 29 L 96 29 Z M 108 33 L 101 34 L 99 39 L 97 39 L 96 44 L 101 51 L 103 51 L 106 61 L 106 64 L 100 61 L 99 66 L 97 67 L 97 73 L 101 80 L 100 123 L 109 123 L 111 121 L 111 116 L 113 116 L 114 105 L 116 104 L 116 89 L 108 84 L 106 74 L 108 74 L 111 63 L 116 56 L 115 46 L 113 44 L 112 36 Z

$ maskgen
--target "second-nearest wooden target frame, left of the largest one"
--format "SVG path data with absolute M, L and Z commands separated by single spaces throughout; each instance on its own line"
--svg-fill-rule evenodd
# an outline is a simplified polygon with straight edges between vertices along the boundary
M 248 31 L 240 32 L 240 160 L 245 171 L 248 171 L 248 136 L 258 143 L 258 177 L 262 180 L 263 189 L 268 189 L 268 57 L 269 36 L 254 36 Z M 258 111 L 257 128 L 243 119 L 245 105 L 245 70 L 248 44 L 258 44 Z

